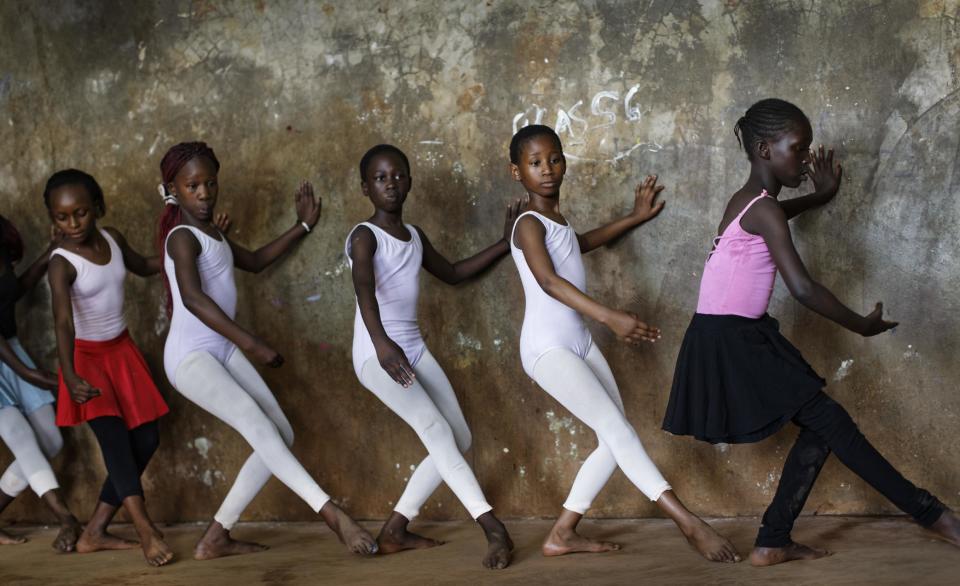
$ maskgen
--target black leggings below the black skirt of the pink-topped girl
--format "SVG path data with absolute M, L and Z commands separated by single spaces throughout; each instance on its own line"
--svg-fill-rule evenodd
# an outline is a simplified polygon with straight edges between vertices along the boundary
M 757 547 L 785 547 L 790 530 L 807 501 L 813 483 L 833 451 L 844 466 L 867 481 L 901 511 L 924 527 L 934 524 L 946 507 L 917 488 L 887 462 L 839 403 L 820 392 L 793 417 L 800 435 L 783 464 L 777 494 L 757 534 Z

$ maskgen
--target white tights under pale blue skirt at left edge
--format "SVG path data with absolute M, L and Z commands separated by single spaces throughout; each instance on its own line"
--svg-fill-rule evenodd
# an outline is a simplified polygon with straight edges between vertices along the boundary
M 37 496 L 59 488 L 48 458 L 63 447 L 53 405 L 24 417 L 16 407 L 0 408 L 0 437 L 16 458 L 0 477 L 0 491 L 15 497 L 29 486 Z

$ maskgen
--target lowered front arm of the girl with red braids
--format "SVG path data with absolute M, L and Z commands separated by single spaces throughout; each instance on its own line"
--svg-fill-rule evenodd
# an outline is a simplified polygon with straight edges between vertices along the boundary
M 200 271 L 197 269 L 200 242 L 192 232 L 176 230 L 171 233 L 167 240 L 167 254 L 173 259 L 180 298 L 190 313 L 257 362 L 274 368 L 283 364 L 283 357 L 276 350 L 240 327 L 203 291 Z

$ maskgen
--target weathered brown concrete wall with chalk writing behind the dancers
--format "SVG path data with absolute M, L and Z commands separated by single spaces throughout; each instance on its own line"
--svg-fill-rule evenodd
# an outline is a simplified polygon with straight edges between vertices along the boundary
M 47 224 L 43 182 L 66 166 L 100 179 L 105 223 L 147 250 L 158 161 L 180 140 L 216 148 L 221 206 L 240 242 L 263 243 L 293 222 L 299 178 L 324 195 L 314 234 L 276 268 L 239 277 L 240 320 L 288 359 L 264 376 L 298 434 L 296 453 L 366 518 L 387 515 L 424 451 L 350 364 L 342 244 L 369 213 L 356 163 L 377 142 L 405 149 L 416 178 L 408 221 L 458 257 L 499 235 L 504 203 L 520 193 L 506 147 L 516 125 L 537 119 L 564 126 L 564 208 L 575 226 L 624 212 L 648 172 L 668 186 L 656 221 L 587 261 L 590 292 L 662 326 L 662 343 L 635 350 L 592 330 L 681 497 L 705 514 L 762 511 L 793 430 L 712 447 L 659 423 L 710 238 L 747 173 L 733 123 L 759 98 L 795 101 L 845 166 L 830 207 L 795 222 L 801 252 L 854 308 L 883 300 L 902 325 L 861 339 L 798 306 L 782 283 L 771 312 L 876 445 L 960 505 L 957 2 L 8 2 L 0 15 L 2 213 L 31 253 Z M 131 278 L 127 298 L 134 337 L 162 379 L 161 291 L 159 279 Z M 506 260 L 457 289 L 425 276 L 420 311 L 491 502 L 505 516 L 553 515 L 595 439 L 520 368 L 514 267 Z M 53 367 L 45 288 L 23 304 L 20 324 Z M 147 473 L 150 506 L 160 519 L 208 519 L 249 449 L 166 389 L 173 414 Z M 98 452 L 86 430 L 66 435 L 56 467 L 87 514 L 103 477 Z M 893 509 L 832 460 L 807 510 Z M 446 488 L 424 514 L 465 517 Z M 593 514 L 656 509 L 618 474 Z M 26 497 L 9 516 L 43 513 Z M 311 514 L 272 481 L 247 517 Z

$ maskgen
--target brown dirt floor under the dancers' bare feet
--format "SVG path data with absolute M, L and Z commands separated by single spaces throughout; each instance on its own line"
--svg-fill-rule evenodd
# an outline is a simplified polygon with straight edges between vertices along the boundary
M 742 553 L 749 552 L 755 518 L 711 521 Z M 191 557 L 202 527 L 164 528 L 178 559 L 170 566 L 147 567 L 139 550 L 89 555 L 57 555 L 49 548 L 55 531 L 8 527 L 30 542 L 0 548 L 0 585 L 165 584 L 240 586 L 245 584 L 957 584 L 960 550 L 932 539 L 905 519 L 805 517 L 794 538 L 834 552 L 814 562 L 773 568 L 711 564 L 690 550 L 668 521 L 658 519 L 587 521 L 592 537 L 619 541 L 607 554 L 564 558 L 540 555 L 547 521 L 508 523 L 517 549 L 514 565 L 502 571 L 480 565 L 484 541 L 468 523 L 422 523 L 418 530 L 448 543 L 430 551 L 359 559 L 347 554 L 321 524 L 251 523 L 234 534 L 271 546 L 269 551 L 197 562 Z M 373 530 L 375 525 L 368 528 Z M 118 534 L 132 537 L 130 527 Z

